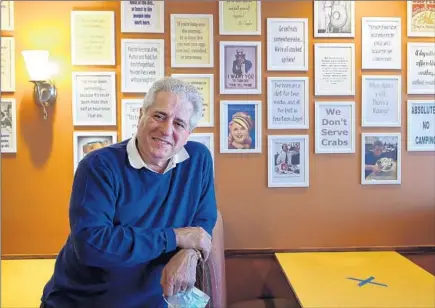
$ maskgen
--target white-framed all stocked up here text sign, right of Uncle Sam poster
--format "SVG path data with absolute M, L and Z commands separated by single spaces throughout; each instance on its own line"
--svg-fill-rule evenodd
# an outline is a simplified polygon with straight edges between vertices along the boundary
M 308 71 L 308 18 L 267 18 L 267 70 Z

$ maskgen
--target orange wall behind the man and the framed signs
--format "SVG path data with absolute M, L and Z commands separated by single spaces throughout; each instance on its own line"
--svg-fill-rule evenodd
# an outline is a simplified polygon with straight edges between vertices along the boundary
M 73 178 L 72 111 L 70 57 L 71 10 L 114 10 L 116 18 L 115 67 L 77 67 L 74 70 L 109 70 L 117 73 L 120 89 L 120 38 L 165 39 L 166 74 L 215 73 L 215 127 L 198 132 L 215 133 L 216 189 L 219 208 L 224 217 L 226 247 L 303 248 L 366 245 L 435 244 L 435 155 L 432 152 L 406 151 L 406 43 L 433 41 L 406 37 L 406 2 L 356 2 L 356 37 L 354 39 L 314 39 L 311 2 L 265 1 L 262 3 L 262 35 L 232 37 L 218 35 L 218 4 L 212 1 L 166 2 L 165 24 L 170 13 L 214 14 L 215 68 L 170 68 L 169 33 L 120 34 L 120 8 L 117 1 L 16 1 L 15 31 L 17 91 L 5 96 L 17 100 L 18 152 L 2 155 L 2 253 L 56 253 L 68 235 L 68 202 Z M 402 127 L 361 129 L 361 17 L 402 18 Z M 267 72 L 266 18 L 309 18 L 311 48 L 307 73 Z M 263 94 L 251 96 L 219 95 L 219 40 L 261 40 Z M 268 131 L 266 128 L 266 78 L 268 76 L 313 77 L 314 42 L 355 42 L 356 51 L 356 153 L 352 155 L 314 154 L 314 85 L 310 79 L 310 187 L 267 188 L 267 135 L 304 134 L 306 130 Z M 32 98 L 32 85 L 21 51 L 48 49 L 59 65 L 56 77 L 58 100 L 44 121 Z M 382 72 L 384 73 L 384 72 Z M 120 99 L 134 97 L 118 92 Z M 137 97 L 137 96 L 136 96 Z M 422 98 L 424 96 L 413 96 Z M 427 96 L 425 97 L 427 98 Z M 232 155 L 219 153 L 219 100 L 261 99 L 263 114 L 263 153 Z M 340 99 L 340 98 L 338 98 Z M 118 123 L 120 123 L 118 112 Z M 88 130 L 80 127 L 80 130 Z M 109 130 L 103 127 L 99 130 Z M 120 125 L 117 126 L 120 134 Z M 361 186 L 361 132 L 401 132 L 402 184 Z M 331 188 L 326 185 L 332 184 Z

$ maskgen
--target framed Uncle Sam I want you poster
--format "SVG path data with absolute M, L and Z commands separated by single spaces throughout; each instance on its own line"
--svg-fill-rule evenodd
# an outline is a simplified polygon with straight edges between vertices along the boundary
M 261 94 L 261 42 L 220 42 L 220 94 Z

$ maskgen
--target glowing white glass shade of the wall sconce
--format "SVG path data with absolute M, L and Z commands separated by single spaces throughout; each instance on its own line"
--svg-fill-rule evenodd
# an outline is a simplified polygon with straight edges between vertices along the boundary
M 47 50 L 23 50 L 21 54 L 31 81 L 43 81 L 51 77 Z

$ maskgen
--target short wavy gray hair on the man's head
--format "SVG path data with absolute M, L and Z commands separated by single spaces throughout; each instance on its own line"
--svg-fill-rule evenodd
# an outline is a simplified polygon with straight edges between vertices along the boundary
M 190 102 L 193 106 L 193 114 L 190 117 L 190 130 L 194 130 L 202 118 L 204 99 L 201 93 L 193 85 L 173 77 L 165 77 L 154 82 L 143 100 L 143 108 L 150 107 L 159 92 L 170 92 L 179 98 Z

